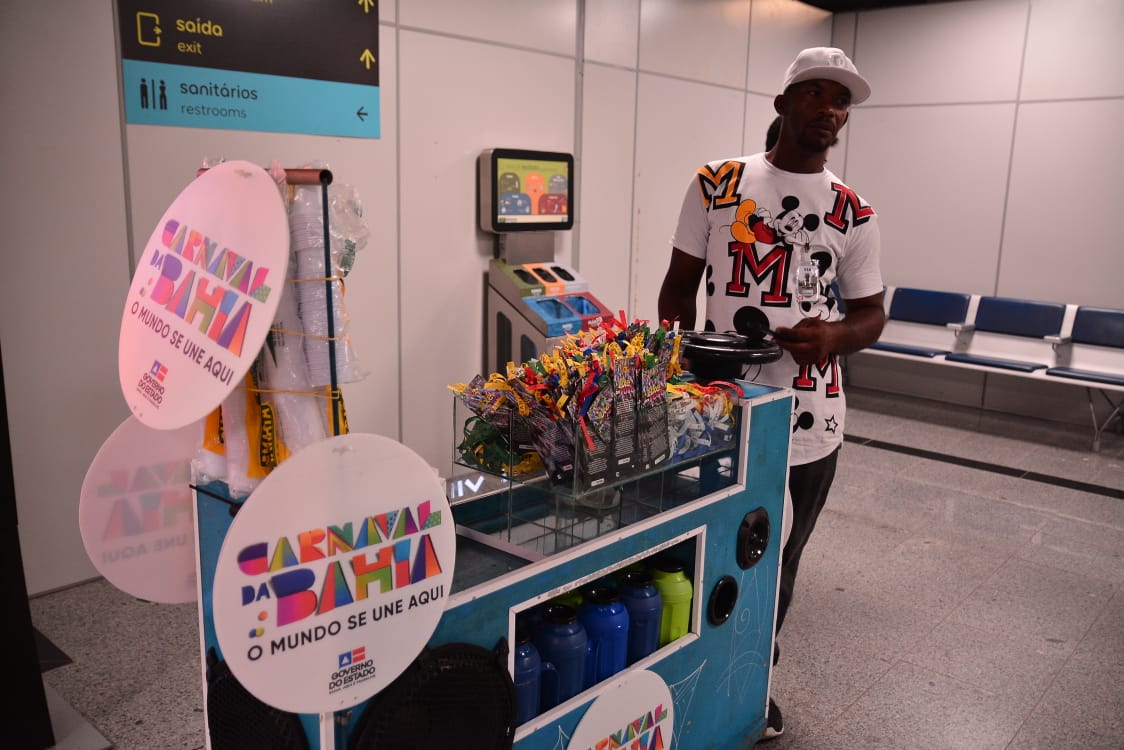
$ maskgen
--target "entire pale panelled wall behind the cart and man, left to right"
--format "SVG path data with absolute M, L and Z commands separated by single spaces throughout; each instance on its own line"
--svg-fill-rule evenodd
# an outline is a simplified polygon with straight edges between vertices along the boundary
M 1106 217 L 1124 82 L 1095 61 L 1113 60 L 1122 7 L 963 0 L 833 18 L 796 0 L 384 1 L 382 137 L 364 141 L 123 126 L 111 0 L 0 4 L 0 338 L 28 590 L 96 575 L 76 501 L 128 414 L 116 344 L 130 237 L 145 242 L 202 160 L 315 163 L 359 189 L 372 236 L 345 300 L 371 374 L 344 388 L 351 427 L 448 476 L 446 386 L 483 360 L 480 151 L 572 151 L 578 223 L 558 259 L 651 319 L 695 170 L 760 150 L 785 67 L 834 39 L 874 96 L 831 163 L 881 216 L 888 283 L 1120 305 L 1124 231 Z

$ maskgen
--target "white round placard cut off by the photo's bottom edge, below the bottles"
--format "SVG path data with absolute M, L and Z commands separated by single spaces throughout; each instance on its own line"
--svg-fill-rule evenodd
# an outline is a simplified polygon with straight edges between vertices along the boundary
M 673 748 L 671 688 L 653 671 L 629 672 L 590 704 L 568 748 Z

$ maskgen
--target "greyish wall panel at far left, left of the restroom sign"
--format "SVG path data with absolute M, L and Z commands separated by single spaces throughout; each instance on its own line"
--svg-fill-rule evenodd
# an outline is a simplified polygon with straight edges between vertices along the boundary
M 79 490 L 128 415 L 116 373 L 130 268 L 114 26 L 109 0 L 0 3 L 0 341 L 29 594 L 93 575 Z

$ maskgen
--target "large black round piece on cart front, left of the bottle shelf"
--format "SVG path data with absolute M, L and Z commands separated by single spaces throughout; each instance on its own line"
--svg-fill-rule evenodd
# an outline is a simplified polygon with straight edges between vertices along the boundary
M 515 683 L 507 639 L 488 650 L 471 643 L 425 649 L 360 715 L 348 750 L 510 748 Z

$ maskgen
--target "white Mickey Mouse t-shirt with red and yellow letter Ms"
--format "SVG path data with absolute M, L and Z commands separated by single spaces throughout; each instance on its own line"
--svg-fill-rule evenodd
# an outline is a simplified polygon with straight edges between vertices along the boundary
M 843 299 L 882 291 L 878 216 L 831 171 L 777 169 L 764 154 L 698 171 L 672 237 L 705 259 L 706 331 L 753 334 L 800 318 L 843 317 Z M 839 358 L 798 365 L 785 352 L 745 379 L 796 391 L 789 463 L 817 461 L 843 442 L 846 401 Z

